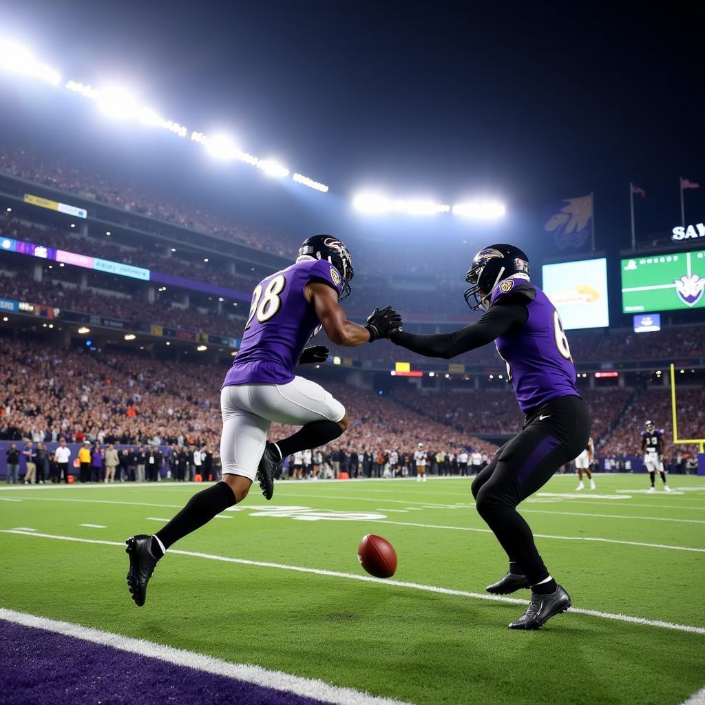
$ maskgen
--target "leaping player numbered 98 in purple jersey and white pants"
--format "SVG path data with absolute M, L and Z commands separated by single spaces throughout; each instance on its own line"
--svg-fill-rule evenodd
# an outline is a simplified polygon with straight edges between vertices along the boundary
M 328 357 L 324 345 L 305 348 L 321 326 L 336 345 L 372 343 L 399 329 L 400 317 L 388 306 L 374 309 L 367 326 L 348 321 L 338 301 L 350 294 L 352 278 L 347 247 L 331 235 L 313 235 L 295 264 L 255 287 L 240 352 L 221 386 L 223 479 L 192 496 L 154 536 L 128 539 L 128 587 L 138 606 L 145 603 L 147 582 L 169 546 L 243 501 L 255 477 L 271 499 L 283 458 L 323 446 L 347 428 L 343 405 L 318 384 L 295 376 L 294 368 Z M 270 443 L 273 421 L 302 428 Z

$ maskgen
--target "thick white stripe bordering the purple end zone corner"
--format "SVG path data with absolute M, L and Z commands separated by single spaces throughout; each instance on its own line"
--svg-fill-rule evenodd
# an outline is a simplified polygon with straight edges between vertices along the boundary
M 223 661 L 221 658 L 197 654 L 195 651 L 174 649 L 173 646 L 155 644 L 154 642 L 147 642 L 145 639 L 134 639 L 133 637 L 125 637 L 113 632 L 104 632 L 99 629 L 82 627 L 69 622 L 59 622 L 58 620 L 37 617 L 4 608 L 0 608 L 0 620 L 25 627 L 35 627 L 35 629 L 54 632 L 66 637 L 74 637 L 84 642 L 111 646 L 120 651 L 128 651 L 130 654 L 158 658 L 159 661 L 173 663 L 176 666 L 194 668 L 205 673 L 243 680 L 264 688 L 290 692 L 302 697 L 320 700 L 324 703 L 335 703 L 336 705 L 404 705 L 399 700 L 370 695 L 353 688 L 331 685 L 314 678 L 302 678 L 298 675 L 283 673 L 281 670 L 268 670 L 262 668 L 262 666 L 255 666 L 250 663 L 231 663 L 230 661 Z

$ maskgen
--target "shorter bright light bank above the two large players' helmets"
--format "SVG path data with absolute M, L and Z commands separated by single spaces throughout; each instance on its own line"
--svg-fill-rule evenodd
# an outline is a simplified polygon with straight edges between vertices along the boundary
M 353 198 L 353 207 L 372 215 L 404 213 L 410 216 L 434 216 L 439 213 L 453 212 L 461 218 L 472 220 L 496 220 L 503 217 L 507 209 L 499 201 L 491 199 L 475 199 L 456 203 L 452 208 L 431 199 L 390 198 L 384 194 L 364 191 Z

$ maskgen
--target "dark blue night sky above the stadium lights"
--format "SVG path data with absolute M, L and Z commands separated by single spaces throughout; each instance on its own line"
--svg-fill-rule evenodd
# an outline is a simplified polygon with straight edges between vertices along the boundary
M 628 245 L 630 180 L 640 235 L 679 224 L 679 176 L 705 219 L 705 40 L 685 4 L 600 7 L 11 1 L 2 34 L 276 155 L 331 186 L 326 207 L 369 185 L 515 214 L 594 191 L 609 250 Z

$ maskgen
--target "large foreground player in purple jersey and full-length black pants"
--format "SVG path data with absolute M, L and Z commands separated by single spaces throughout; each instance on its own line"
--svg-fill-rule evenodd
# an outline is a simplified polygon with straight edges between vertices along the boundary
M 509 571 L 488 592 L 532 589 L 525 615 L 510 629 L 538 629 L 570 607 L 570 595 L 549 575 L 529 525 L 516 507 L 534 494 L 590 436 L 587 409 L 575 386 L 568 339 L 553 304 L 529 282 L 527 256 L 513 245 L 491 245 L 475 255 L 465 300 L 484 316 L 454 333 L 394 332 L 391 341 L 429 357 L 451 357 L 495 341 L 525 412 L 521 433 L 500 448 L 472 483 L 477 511 L 509 557 Z M 481 403 L 478 400 L 478 403 Z

